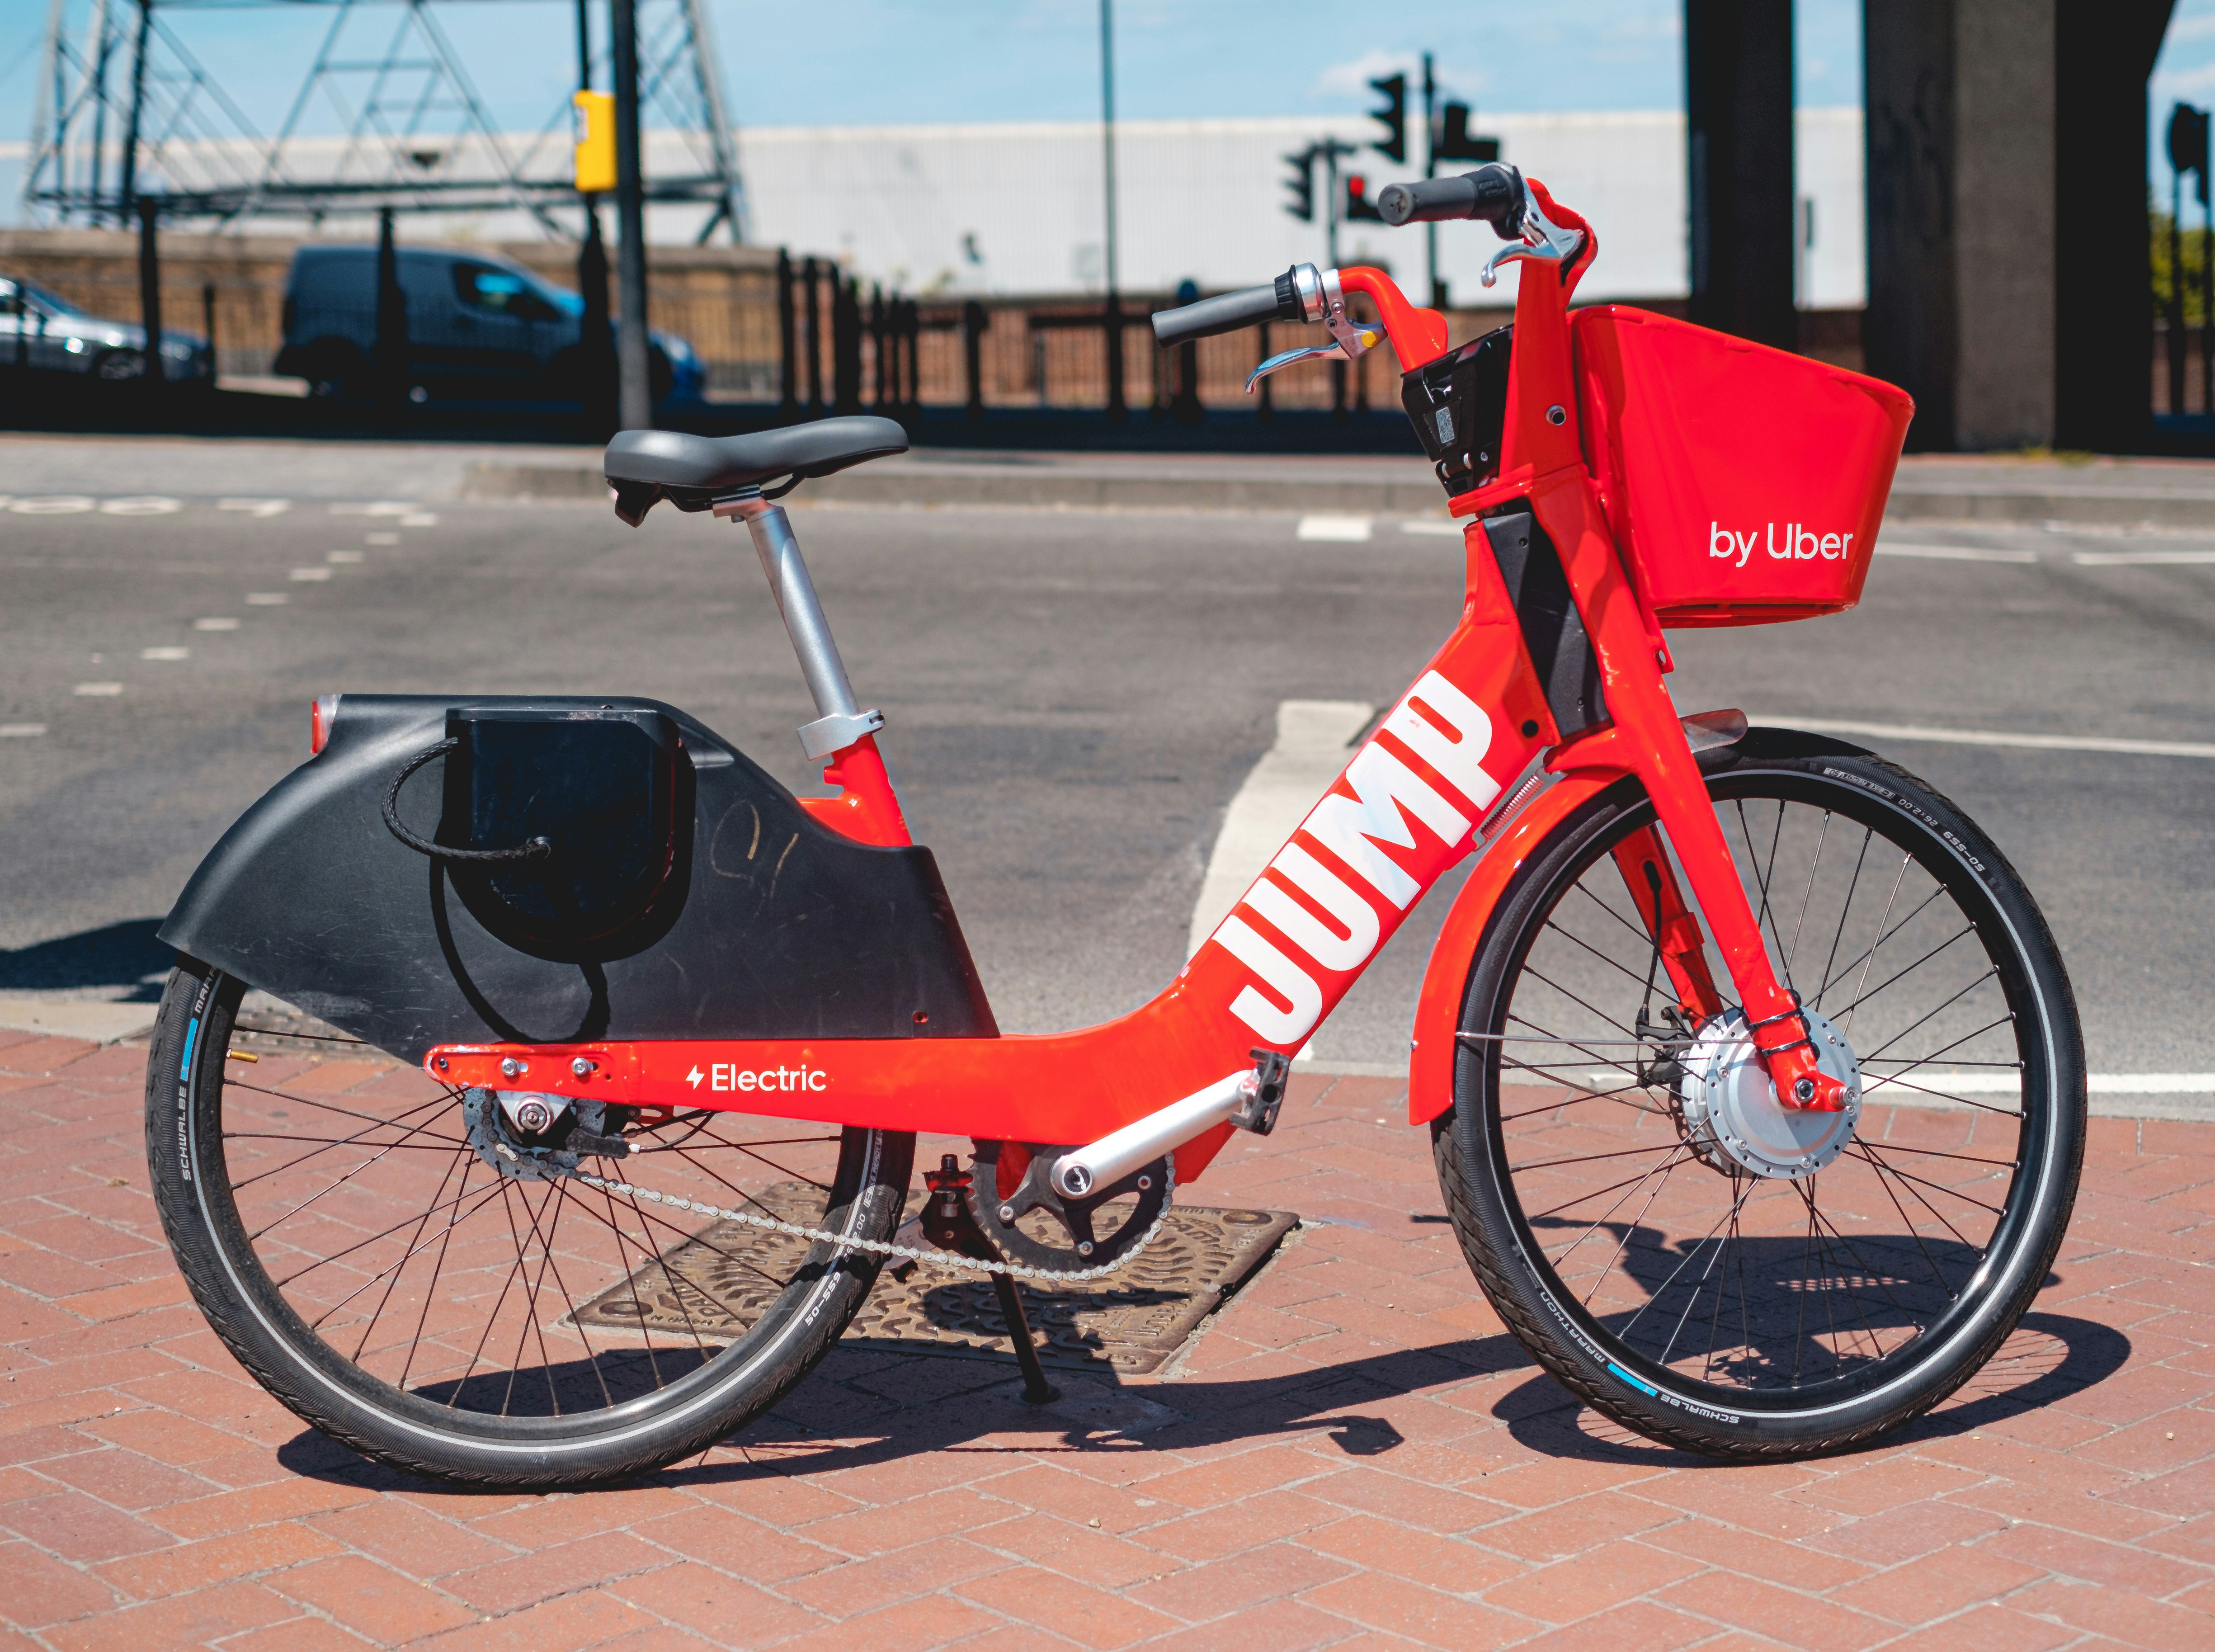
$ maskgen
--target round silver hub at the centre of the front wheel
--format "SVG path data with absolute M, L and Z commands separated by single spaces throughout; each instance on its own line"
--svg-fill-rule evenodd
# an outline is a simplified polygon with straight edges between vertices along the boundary
M 1745 1012 L 1725 1010 L 1683 1052 L 1683 1083 L 1677 1092 L 1683 1098 L 1686 1143 L 1708 1167 L 1725 1176 L 1752 1171 L 1799 1180 L 1823 1169 L 1854 1138 L 1861 1063 L 1838 1028 L 1814 1010 L 1803 1014 L 1816 1065 L 1845 1085 L 1845 1107 L 1832 1114 L 1779 1103 L 1776 1085 L 1754 1054 Z

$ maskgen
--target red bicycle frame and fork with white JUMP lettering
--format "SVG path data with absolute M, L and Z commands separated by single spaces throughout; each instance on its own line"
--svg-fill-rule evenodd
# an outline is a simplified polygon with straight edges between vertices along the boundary
M 997 1039 L 793 1039 L 576 1045 L 443 1045 L 427 1067 L 452 1085 L 529 1087 L 647 1107 L 722 1107 L 979 1140 L 1092 1143 L 1251 1065 L 1251 1050 L 1296 1052 L 1347 994 L 1415 901 L 1471 850 L 1480 864 L 1431 954 L 1409 1067 L 1409 1121 L 1453 1103 L 1453 1052 L 1471 959 L 1502 890 L 1579 804 L 1621 779 L 1652 797 L 1690 884 L 1652 833 L 1626 844 L 1641 917 L 1694 1019 L 1723 1008 L 1697 912 L 1756 1028 L 1788 1105 L 1838 1107 L 1816 1070 L 1796 1001 L 1768 948 L 1668 689 L 1668 649 L 1628 578 L 1579 436 L 1568 299 L 1590 226 L 1533 184 L 1557 226 L 1582 233 L 1566 264 L 1531 264 L 1515 301 L 1515 348 L 1497 481 L 1451 500 L 1466 534 L 1462 618 L 1338 782 L 1254 879 L 1185 970 L 1152 1003 L 1081 1032 Z M 1382 270 L 1340 270 L 1367 292 L 1402 370 L 1446 350 L 1444 319 L 1413 308 Z M 1613 722 L 1564 742 L 1531 664 L 1480 514 L 1531 509 L 1553 540 L 1599 662 Z M 1544 791 L 1504 788 L 1544 755 Z M 873 737 L 837 751 L 837 797 L 804 806 L 875 844 L 908 833 Z M 1619 855 L 1621 859 L 1621 855 Z M 1652 868 L 1648 875 L 1646 868 Z M 1216 1125 L 1176 1149 L 1189 1183 L 1229 1134 Z

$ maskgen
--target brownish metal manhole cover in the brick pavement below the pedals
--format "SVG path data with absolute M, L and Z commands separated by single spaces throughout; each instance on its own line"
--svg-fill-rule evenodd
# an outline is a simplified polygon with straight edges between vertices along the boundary
M 771 1209 L 780 1194 L 800 1205 L 813 1196 L 804 1183 L 762 1191 Z M 924 1207 L 921 1189 L 908 1194 L 908 1216 Z M 1039 1357 L 1059 1371 L 1125 1375 L 1158 1369 L 1185 1338 L 1269 1260 L 1296 1225 L 1291 1211 L 1236 1211 L 1174 1205 L 1161 1233 L 1136 1260 L 1103 1280 L 1041 1284 L 1023 1280 L 1023 1311 L 1043 1335 Z M 910 1240 L 908 1227 L 902 1242 Z M 715 1222 L 576 1311 L 576 1322 L 605 1331 L 658 1331 L 680 1338 L 735 1338 L 751 1326 L 791 1278 L 806 1240 L 764 1233 L 744 1222 Z M 944 1353 L 1010 1360 L 1008 1326 L 988 1278 L 950 1276 L 915 1267 L 908 1278 L 890 1269 L 853 1318 L 846 1344 L 893 1353 Z

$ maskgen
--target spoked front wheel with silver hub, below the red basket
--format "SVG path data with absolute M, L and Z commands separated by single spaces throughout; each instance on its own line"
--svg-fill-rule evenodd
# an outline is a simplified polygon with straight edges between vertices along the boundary
M 2060 1247 L 2087 1112 L 2069 977 L 1998 848 L 1876 757 L 1763 748 L 1708 791 L 1854 1116 L 1779 1109 L 1743 1014 L 1677 1008 L 1630 899 L 1668 848 L 1630 784 L 1502 897 L 1433 1127 L 1462 1251 L 1533 1355 L 1741 1459 L 1869 1439 L 1991 1357 Z

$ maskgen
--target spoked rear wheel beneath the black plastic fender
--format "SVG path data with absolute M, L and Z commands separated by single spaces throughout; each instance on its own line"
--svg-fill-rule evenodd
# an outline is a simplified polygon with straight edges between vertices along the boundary
M 877 1276 L 866 1251 L 594 1189 L 576 1169 L 886 1240 L 915 1138 L 620 1098 L 540 1125 L 523 1101 L 436 1085 L 182 961 L 155 1025 L 146 1149 L 193 1295 L 272 1395 L 399 1468 L 552 1488 L 647 1473 L 744 1426 L 822 1360 Z

